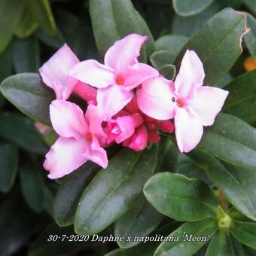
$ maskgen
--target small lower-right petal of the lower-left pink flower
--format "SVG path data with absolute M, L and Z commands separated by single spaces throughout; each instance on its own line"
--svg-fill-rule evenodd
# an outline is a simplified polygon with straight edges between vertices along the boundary
M 102 166 L 102 168 L 107 168 L 108 166 L 107 152 L 100 147 L 99 141 L 96 137 L 93 137 L 90 147 L 87 148 L 87 151 L 83 155 L 93 163 L 97 163 L 99 166 Z

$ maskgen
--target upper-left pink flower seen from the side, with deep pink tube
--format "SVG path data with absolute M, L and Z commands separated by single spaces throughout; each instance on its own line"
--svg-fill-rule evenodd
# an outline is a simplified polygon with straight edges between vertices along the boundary
M 52 88 L 56 99 L 68 99 L 74 91 L 86 101 L 96 101 L 96 90 L 69 75 L 70 70 L 79 63 L 77 56 L 64 44 L 39 69 L 44 84 Z

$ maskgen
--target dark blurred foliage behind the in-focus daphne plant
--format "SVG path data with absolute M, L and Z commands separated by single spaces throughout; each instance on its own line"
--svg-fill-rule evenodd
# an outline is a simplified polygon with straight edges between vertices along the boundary
M 133 0 L 133 5 L 148 23 L 157 50 L 166 41 L 179 53 L 184 44 L 218 11 L 232 7 L 248 14 L 251 31 L 245 36 L 245 51 L 220 83 L 227 84 L 245 72 L 244 61 L 256 58 L 256 2 L 254 0 Z M 198 5 L 199 7 L 195 8 Z M 203 4 L 202 4 L 203 3 Z M 104 38 L 102 38 L 104 40 Z M 20 72 L 37 72 L 64 43 L 69 44 L 79 59 L 99 59 L 90 22 L 89 1 L 85 0 L 0 0 L 0 82 Z M 160 54 L 160 55 L 159 55 Z M 166 55 L 166 52 L 165 52 Z M 176 56 L 170 56 L 175 59 Z M 161 53 L 153 53 L 151 62 L 160 65 Z M 160 60 L 159 60 L 160 59 Z M 158 61 L 158 62 L 157 62 Z M 172 70 L 172 72 L 175 72 Z M 174 74 L 171 75 L 173 77 Z M 42 169 L 44 154 L 54 134 L 41 123 L 25 117 L 0 95 L 0 255 L 103 255 L 117 248 L 114 242 L 47 242 L 49 234 L 72 234 L 73 226 L 59 228 L 53 219 L 53 200 L 62 180 L 51 181 Z M 165 163 L 166 165 L 169 163 Z M 172 163 L 170 163 L 172 164 Z M 178 157 L 178 172 L 208 181 L 197 166 L 184 156 Z M 83 170 L 81 169 L 80 172 Z M 87 182 L 96 173 L 87 177 Z M 75 178 L 75 177 L 74 177 Z M 160 218 L 162 221 L 162 218 Z M 175 230 L 163 221 L 159 227 Z M 113 227 L 104 231 L 113 233 Z M 154 245 L 139 245 L 146 255 Z M 136 255 L 136 250 L 113 255 Z M 138 249 L 139 250 L 139 249 Z M 203 247 L 197 254 L 204 254 Z M 246 255 L 256 251 L 243 245 Z M 139 252 L 142 255 L 142 252 Z M 149 250 L 150 251 L 150 250 Z

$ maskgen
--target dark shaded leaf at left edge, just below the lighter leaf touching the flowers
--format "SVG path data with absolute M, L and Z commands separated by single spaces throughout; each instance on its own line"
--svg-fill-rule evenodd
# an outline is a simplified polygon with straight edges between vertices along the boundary
M 37 154 L 45 154 L 47 147 L 44 145 L 40 134 L 35 130 L 32 120 L 21 114 L 0 114 L 0 136 L 10 142 Z

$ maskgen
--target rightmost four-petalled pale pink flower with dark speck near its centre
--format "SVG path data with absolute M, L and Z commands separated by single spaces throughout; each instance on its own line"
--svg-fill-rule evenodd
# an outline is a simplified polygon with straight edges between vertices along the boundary
M 181 152 L 195 148 L 203 136 L 203 126 L 214 123 L 228 92 L 203 86 L 203 64 L 197 53 L 187 50 L 175 83 L 151 78 L 137 91 L 139 108 L 149 117 L 174 117 L 175 136 Z

